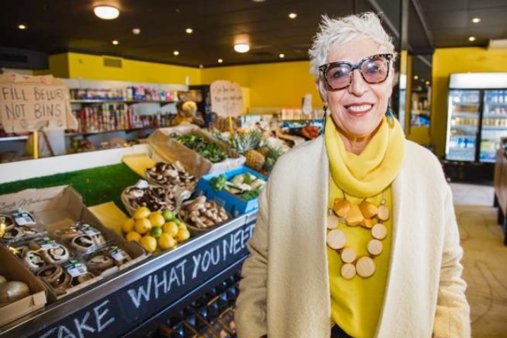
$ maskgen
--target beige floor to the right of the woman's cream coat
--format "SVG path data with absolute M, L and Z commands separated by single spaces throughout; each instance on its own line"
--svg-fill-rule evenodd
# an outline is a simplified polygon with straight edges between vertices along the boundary
M 451 183 L 463 246 L 473 338 L 507 337 L 507 246 L 496 224 L 494 189 Z

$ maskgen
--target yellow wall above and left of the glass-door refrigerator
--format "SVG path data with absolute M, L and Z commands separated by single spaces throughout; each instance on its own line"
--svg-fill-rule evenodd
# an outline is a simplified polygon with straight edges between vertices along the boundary
M 444 157 L 449 75 L 467 72 L 507 72 L 507 49 L 488 50 L 480 47 L 436 49 L 432 65 L 430 136 L 436 155 Z

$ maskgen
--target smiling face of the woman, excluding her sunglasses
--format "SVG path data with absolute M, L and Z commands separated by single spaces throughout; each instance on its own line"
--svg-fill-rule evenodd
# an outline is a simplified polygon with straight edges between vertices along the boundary
M 367 56 L 379 53 L 379 44 L 372 39 L 357 39 L 336 46 L 326 62 L 358 63 Z M 387 80 L 377 84 L 367 83 L 359 70 L 353 70 L 353 80 L 348 87 L 336 91 L 327 90 L 327 106 L 338 131 L 352 143 L 369 141 L 384 118 L 392 92 L 392 65 Z

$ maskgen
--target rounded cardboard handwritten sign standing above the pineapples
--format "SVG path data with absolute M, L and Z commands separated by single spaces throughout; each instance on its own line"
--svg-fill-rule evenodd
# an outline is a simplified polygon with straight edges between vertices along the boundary
M 212 96 L 212 110 L 224 117 L 243 113 L 243 94 L 237 83 L 219 80 L 209 86 Z

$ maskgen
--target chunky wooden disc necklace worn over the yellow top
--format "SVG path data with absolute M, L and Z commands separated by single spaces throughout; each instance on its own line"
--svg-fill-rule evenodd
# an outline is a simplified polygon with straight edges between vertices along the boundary
M 371 277 L 375 273 L 374 258 L 382 252 L 382 240 L 387 236 L 387 228 L 384 225 L 389 220 L 389 208 L 386 206 L 386 191 L 382 193 L 379 206 L 363 199 L 355 204 L 346 198 L 336 198 L 327 215 L 326 243 L 340 255 L 343 265 L 341 276 L 350 280 L 355 275 L 362 278 Z M 347 246 L 347 237 L 343 227 L 362 227 L 371 232 L 372 239 L 367 243 L 367 255 L 358 257 L 357 251 Z

